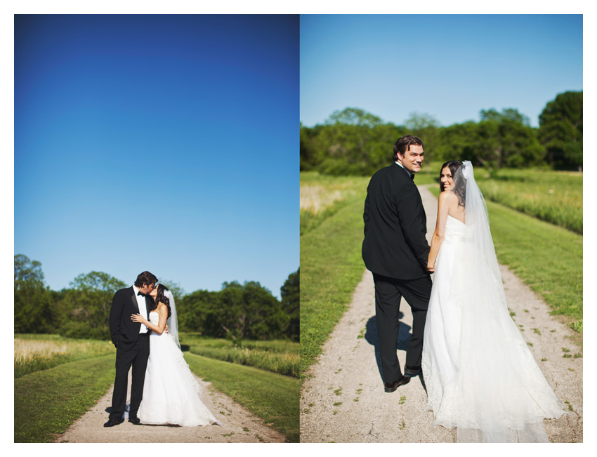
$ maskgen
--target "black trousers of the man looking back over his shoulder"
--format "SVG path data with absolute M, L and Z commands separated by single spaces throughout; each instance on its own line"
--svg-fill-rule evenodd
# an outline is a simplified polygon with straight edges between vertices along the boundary
M 396 352 L 400 327 L 398 322 L 400 299 L 404 297 L 412 310 L 412 337 L 407 345 L 406 364 L 420 366 L 423 354 L 423 331 L 431 296 L 431 277 L 402 280 L 374 273 L 373 280 L 383 381 L 393 383 L 402 378 Z

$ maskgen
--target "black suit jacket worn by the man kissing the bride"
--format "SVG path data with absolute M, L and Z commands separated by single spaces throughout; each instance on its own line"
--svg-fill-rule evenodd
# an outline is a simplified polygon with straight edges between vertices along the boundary
M 154 303 L 153 298 L 145 296 L 145 307 L 147 316 Z M 131 320 L 132 314 L 139 314 L 139 306 L 135 296 L 133 286 L 126 289 L 120 289 L 114 293 L 112 298 L 112 307 L 110 307 L 110 333 L 112 334 L 112 343 L 114 346 L 124 350 L 129 350 L 139 338 L 140 322 Z M 148 329 L 148 332 L 151 330 Z

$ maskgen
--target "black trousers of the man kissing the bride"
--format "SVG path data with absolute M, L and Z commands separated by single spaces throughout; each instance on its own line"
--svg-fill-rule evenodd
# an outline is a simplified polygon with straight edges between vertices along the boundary
M 122 418 L 126 406 L 126 391 L 129 382 L 129 369 L 133 367 L 131 382 L 131 409 L 129 418 L 137 417 L 137 410 L 143 399 L 143 384 L 145 383 L 145 369 L 149 358 L 149 332 L 139 333 L 137 342 L 130 350 L 125 351 L 116 347 L 116 379 L 114 380 L 114 395 L 112 395 L 112 411 L 110 419 Z

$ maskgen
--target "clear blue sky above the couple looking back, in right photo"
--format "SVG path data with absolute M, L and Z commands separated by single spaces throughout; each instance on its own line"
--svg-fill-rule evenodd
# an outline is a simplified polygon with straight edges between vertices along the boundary
M 442 126 L 582 91 L 582 15 L 301 15 L 301 121 L 358 107 Z

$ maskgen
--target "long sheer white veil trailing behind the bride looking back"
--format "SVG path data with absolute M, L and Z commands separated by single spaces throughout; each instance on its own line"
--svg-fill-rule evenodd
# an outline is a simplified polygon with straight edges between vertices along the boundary
M 543 419 L 563 404 L 547 384 L 509 315 L 487 206 L 470 161 L 454 173 L 465 225 L 450 287 L 461 322 L 458 371 L 443 392 L 438 422 L 457 427 L 459 442 L 549 442 Z

